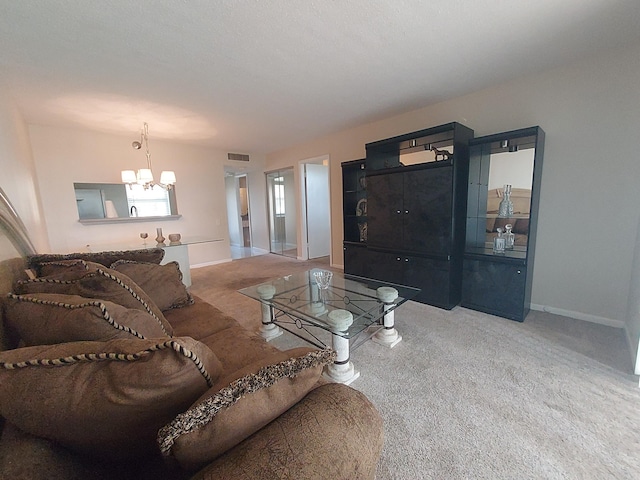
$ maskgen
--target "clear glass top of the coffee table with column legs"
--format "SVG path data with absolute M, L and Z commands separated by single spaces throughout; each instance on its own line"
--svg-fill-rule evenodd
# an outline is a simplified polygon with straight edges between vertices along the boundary
M 378 288 L 392 287 L 398 292 L 398 298 L 387 307 L 388 311 L 420 293 L 418 288 L 338 272 L 332 272 L 328 288 L 321 291 L 314 274 L 322 271 L 326 270 L 312 269 L 286 275 L 243 288 L 239 292 L 297 320 L 328 331 L 332 331 L 327 323 L 328 315 L 334 310 L 347 310 L 353 316 L 351 326 L 343 332 L 332 332 L 345 338 L 355 337 L 384 316 L 384 304 L 378 298 Z M 274 323 L 277 323 L 277 319 Z

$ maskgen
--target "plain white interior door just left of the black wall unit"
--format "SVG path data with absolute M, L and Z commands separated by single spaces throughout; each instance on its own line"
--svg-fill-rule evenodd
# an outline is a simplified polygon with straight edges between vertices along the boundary
M 309 258 L 326 257 L 331 251 L 329 167 L 305 164 L 305 183 Z

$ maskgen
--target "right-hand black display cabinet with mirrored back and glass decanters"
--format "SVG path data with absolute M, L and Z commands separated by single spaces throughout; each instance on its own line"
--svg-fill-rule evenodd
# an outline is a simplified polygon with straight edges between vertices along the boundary
M 524 321 L 531 304 L 544 131 L 469 141 L 462 306 Z

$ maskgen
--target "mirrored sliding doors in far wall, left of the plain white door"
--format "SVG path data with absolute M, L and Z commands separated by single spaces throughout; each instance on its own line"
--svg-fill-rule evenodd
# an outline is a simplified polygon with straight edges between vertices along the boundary
M 295 258 L 298 244 L 293 167 L 268 172 L 266 178 L 270 252 Z

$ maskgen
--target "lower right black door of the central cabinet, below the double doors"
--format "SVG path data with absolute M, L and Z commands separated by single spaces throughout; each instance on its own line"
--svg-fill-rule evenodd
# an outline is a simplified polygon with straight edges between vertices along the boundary
M 416 301 L 451 309 L 459 299 L 450 298 L 451 265 L 448 260 L 404 257 L 405 285 L 420 288 Z

